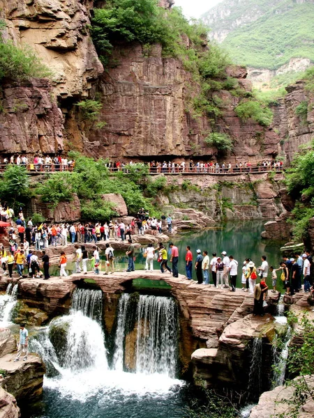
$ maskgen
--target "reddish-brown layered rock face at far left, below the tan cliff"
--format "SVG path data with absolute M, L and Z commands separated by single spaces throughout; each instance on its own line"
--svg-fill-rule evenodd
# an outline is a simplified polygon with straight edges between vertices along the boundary
M 57 153 L 63 149 L 63 116 L 46 79 L 3 84 L 0 153 Z

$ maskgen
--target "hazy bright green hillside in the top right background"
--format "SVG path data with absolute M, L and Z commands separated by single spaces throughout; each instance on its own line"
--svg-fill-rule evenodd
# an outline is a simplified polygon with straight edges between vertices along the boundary
M 274 6 L 269 0 L 249 0 L 230 3 L 230 6 L 230 14 L 222 17 L 220 30 L 231 28 L 223 46 L 236 63 L 276 70 L 294 57 L 314 61 L 314 3 L 311 1 L 285 0 Z M 260 15 L 254 22 L 252 10 Z M 213 21 L 215 28 L 217 19 L 216 16 Z M 206 20 L 210 24 L 208 16 Z M 234 27 L 237 20 L 243 23 Z

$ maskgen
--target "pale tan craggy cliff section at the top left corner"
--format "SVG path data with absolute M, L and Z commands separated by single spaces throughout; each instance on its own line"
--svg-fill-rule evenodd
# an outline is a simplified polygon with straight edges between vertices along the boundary
M 7 36 L 36 50 L 54 73 L 59 98 L 87 96 L 103 72 L 87 29 L 91 6 L 89 0 L 0 1 Z

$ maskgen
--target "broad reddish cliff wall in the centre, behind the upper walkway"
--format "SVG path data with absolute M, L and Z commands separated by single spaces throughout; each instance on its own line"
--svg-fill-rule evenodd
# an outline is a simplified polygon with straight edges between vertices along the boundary
M 204 143 L 212 130 L 209 120 L 193 118 L 188 110 L 200 86 L 181 61 L 163 58 L 161 52 L 160 45 L 151 47 L 149 56 L 139 44 L 115 46 L 112 60 L 118 65 L 109 68 L 98 84 L 107 125 L 91 132 L 88 141 L 82 139 L 89 153 L 135 159 L 217 154 Z M 228 75 L 236 77 L 244 90 L 251 89 L 245 68 L 230 68 Z M 234 108 L 239 98 L 228 91 L 215 94 L 224 102 L 223 117 L 216 123 L 235 141 L 234 153 L 226 160 L 261 160 L 278 153 L 274 131 L 237 118 Z

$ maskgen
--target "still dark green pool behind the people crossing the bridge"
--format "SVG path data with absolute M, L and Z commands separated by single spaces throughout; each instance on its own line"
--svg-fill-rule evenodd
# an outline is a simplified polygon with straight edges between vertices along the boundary
M 279 267 L 279 263 L 282 259 L 280 247 L 284 242 L 282 241 L 269 241 L 262 240 L 260 234 L 264 230 L 264 221 L 248 221 L 248 222 L 230 222 L 223 228 L 207 229 L 200 232 L 187 233 L 180 235 L 173 239 L 173 242 L 179 248 L 179 272 L 185 274 L 185 254 L 186 246 L 190 245 L 193 252 L 193 258 L 196 258 L 196 250 L 205 249 L 208 251 L 209 256 L 213 252 L 217 255 L 222 251 L 227 251 L 228 255 L 233 255 L 239 262 L 237 287 L 241 288 L 241 267 L 246 258 L 251 258 L 255 265 L 258 267 L 262 263 L 262 255 L 267 256 L 269 267 L 273 265 L 275 268 Z M 168 243 L 165 243 L 168 248 Z M 156 245 L 157 247 L 157 245 Z M 145 267 L 144 247 L 137 250 L 135 270 L 143 270 Z M 128 257 L 124 251 L 114 251 L 115 256 L 115 268 L 119 271 L 124 271 L 128 267 Z M 170 258 L 170 257 L 169 257 Z M 101 255 L 100 271 L 105 270 L 105 256 Z M 89 270 L 90 264 L 88 265 Z M 159 270 L 159 263 L 154 261 L 154 269 Z M 59 269 L 57 266 L 52 267 L 51 274 L 54 276 L 59 275 Z M 68 273 L 75 271 L 74 263 L 68 263 Z M 168 274 L 168 273 L 165 273 Z M 278 274 L 278 290 L 282 291 L 283 286 L 280 280 L 280 272 Z M 196 280 L 195 272 L 193 271 L 193 279 Z M 269 271 L 269 277 L 267 279 L 269 288 L 271 286 L 271 273 Z

